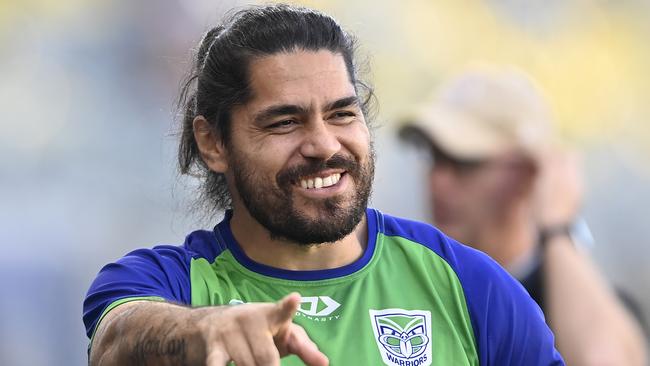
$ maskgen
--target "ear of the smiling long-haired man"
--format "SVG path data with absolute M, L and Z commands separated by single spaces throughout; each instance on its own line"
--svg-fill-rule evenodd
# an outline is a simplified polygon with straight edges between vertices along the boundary
M 205 165 L 214 172 L 225 173 L 228 169 L 228 159 L 221 137 L 203 116 L 196 116 L 192 126 L 194 139 Z

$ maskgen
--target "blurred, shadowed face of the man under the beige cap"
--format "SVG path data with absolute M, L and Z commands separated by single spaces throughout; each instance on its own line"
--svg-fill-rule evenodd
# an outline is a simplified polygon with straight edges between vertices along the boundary
M 516 169 L 506 156 L 460 160 L 434 149 L 429 191 L 436 226 L 480 246 L 481 230 L 499 224 L 516 196 Z

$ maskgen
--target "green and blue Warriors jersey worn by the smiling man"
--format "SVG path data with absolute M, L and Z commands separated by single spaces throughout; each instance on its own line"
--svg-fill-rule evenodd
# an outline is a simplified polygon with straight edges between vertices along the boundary
M 291 271 L 248 258 L 230 230 L 182 246 L 133 251 L 105 266 L 84 302 L 92 336 L 102 316 L 134 299 L 188 306 L 275 302 L 302 295 L 294 322 L 331 365 L 563 365 L 539 307 L 485 254 L 434 227 L 366 211 L 368 243 L 357 261 Z M 300 365 L 296 357 L 282 365 Z

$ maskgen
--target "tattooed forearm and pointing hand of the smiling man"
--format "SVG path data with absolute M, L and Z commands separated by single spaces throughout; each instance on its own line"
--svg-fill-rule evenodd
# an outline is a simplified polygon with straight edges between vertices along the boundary
M 327 356 L 292 319 L 300 295 L 277 303 L 189 308 L 133 301 L 100 322 L 90 365 L 279 365 L 297 355 L 307 365 L 326 366 Z

